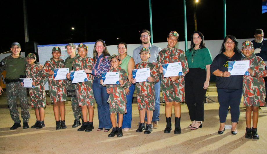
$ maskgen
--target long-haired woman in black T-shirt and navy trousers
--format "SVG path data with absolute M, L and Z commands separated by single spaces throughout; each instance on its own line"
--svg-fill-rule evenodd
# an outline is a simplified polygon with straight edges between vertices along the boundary
M 237 122 L 239 120 L 239 105 L 242 97 L 243 77 L 232 75 L 228 72 L 228 61 L 241 60 L 244 55 L 238 49 L 237 39 L 228 35 L 221 45 L 220 54 L 217 55 L 211 66 L 210 72 L 216 76 L 216 86 L 219 99 L 220 128 L 218 133 L 225 130 L 225 121 L 228 114 L 228 107 L 231 107 L 232 134 L 237 134 Z

